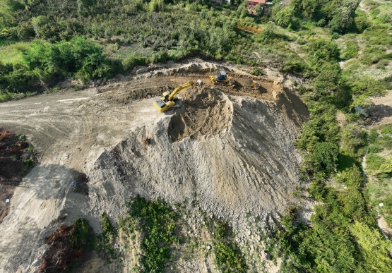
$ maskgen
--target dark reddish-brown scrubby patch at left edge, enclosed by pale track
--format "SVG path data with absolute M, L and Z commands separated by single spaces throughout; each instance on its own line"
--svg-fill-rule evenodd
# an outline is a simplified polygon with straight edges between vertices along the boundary
M 9 202 L 13 192 L 27 169 L 23 159 L 33 157 L 27 150 L 28 142 L 19 140 L 18 135 L 0 127 L 0 224 L 9 211 Z

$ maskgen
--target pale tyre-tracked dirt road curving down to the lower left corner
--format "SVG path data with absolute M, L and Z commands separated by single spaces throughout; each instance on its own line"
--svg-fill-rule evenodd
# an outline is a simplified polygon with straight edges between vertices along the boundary
M 11 212 L 0 225 L 0 272 L 29 272 L 28 266 L 40 259 L 45 227 L 59 217 L 71 182 L 84 172 L 88 157 L 117 144 L 129 128 L 162 118 L 153 99 L 91 105 L 99 96 L 93 89 L 0 104 L 1 125 L 27 135 L 40 161 L 16 189 Z

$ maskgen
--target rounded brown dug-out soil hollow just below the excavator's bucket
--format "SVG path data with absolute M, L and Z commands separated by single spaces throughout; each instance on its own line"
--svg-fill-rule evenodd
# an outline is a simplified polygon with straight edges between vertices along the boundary
M 219 90 L 194 87 L 182 92 L 183 107 L 172 116 L 167 134 L 179 141 L 201 135 L 220 135 L 230 126 L 232 104 Z

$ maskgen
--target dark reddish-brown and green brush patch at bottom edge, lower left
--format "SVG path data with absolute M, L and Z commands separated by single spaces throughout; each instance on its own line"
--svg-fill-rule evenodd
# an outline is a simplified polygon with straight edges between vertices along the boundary
M 95 236 L 87 220 L 76 219 L 70 226 L 60 226 L 45 238 L 49 245 L 42 255 L 38 273 L 71 272 L 88 259 Z

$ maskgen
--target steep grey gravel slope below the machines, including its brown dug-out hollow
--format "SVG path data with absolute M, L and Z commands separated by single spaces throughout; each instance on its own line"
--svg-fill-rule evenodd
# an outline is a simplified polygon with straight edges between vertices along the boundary
M 176 114 L 131 130 L 86 169 L 92 207 L 115 215 L 130 195 L 196 198 L 202 210 L 240 228 L 247 212 L 268 220 L 296 202 L 301 159 L 292 142 L 307 111 L 295 95 L 281 90 L 268 102 L 219 87 L 181 95 Z

